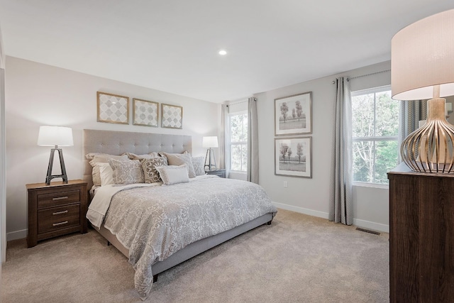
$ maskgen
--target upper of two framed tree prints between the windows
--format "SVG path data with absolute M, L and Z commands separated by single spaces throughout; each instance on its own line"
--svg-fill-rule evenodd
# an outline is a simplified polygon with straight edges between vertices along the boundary
M 275 136 L 312 132 L 312 92 L 275 99 Z

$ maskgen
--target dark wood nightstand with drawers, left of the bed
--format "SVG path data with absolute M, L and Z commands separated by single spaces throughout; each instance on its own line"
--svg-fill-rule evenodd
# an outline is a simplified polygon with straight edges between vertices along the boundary
M 87 233 L 87 182 L 27 184 L 27 246 L 67 233 Z

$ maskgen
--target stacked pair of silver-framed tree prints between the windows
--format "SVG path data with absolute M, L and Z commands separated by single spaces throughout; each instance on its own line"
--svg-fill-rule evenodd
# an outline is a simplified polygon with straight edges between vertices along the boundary
M 275 175 L 312 177 L 312 92 L 275 99 Z

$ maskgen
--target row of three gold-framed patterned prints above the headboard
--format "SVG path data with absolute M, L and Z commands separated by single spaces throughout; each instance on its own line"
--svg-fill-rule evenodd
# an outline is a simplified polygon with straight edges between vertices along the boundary
M 129 97 L 96 92 L 97 121 L 129 124 Z M 133 98 L 133 125 L 158 127 L 159 103 Z M 183 128 L 183 108 L 161 104 L 161 127 Z

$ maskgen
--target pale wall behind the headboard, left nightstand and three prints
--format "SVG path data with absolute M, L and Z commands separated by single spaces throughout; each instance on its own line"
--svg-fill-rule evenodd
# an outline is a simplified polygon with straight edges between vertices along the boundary
M 118 66 L 121 68 L 121 66 Z M 130 97 L 130 125 L 96 122 L 96 92 Z M 183 129 L 132 125 L 132 98 L 183 106 Z M 6 57 L 6 232 L 24 238 L 26 184 L 45 182 L 50 148 L 38 146 L 42 125 L 72 127 L 74 146 L 64 147 L 69 179 L 82 177 L 84 128 L 191 135 L 194 155 L 205 155 L 202 136 L 217 136 L 220 106 L 49 65 Z

